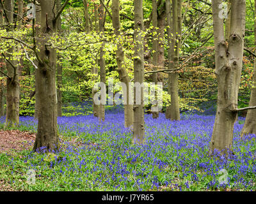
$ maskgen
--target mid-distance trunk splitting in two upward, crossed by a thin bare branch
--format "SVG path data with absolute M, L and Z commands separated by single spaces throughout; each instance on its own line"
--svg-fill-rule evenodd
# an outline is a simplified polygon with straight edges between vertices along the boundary
M 168 48 L 168 68 L 179 68 L 179 49 L 181 39 L 181 4 L 182 0 L 172 1 L 172 20 L 170 19 L 170 3 L 166 1 L 168 7 L 168 36 L 172 44 Z M 168 5 L 168 6 L 167 6 Z M 172 29 L 172 30 L 171 30 Z M 179 110 L 179 73 L 173 71 L 168 74 L 168 93 L 171 96 L 171 104 L 166 109 L 166 118 L 180 120 Z

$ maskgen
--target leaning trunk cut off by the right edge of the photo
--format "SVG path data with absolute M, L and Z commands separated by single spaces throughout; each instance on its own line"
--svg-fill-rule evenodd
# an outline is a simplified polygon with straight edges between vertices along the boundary
M 256 3 L 255 10 L 256 11 Z M 254 14 L 254 18 L 255 18 Z M 254 45 L 256 45 L 256 20 L 254 20 Z M 253 64 L 253 80 L 252 80 L 252 91 L 249 106 L 256 106 L 256 58 L 254 58 Z M 256 110 L 248 110 L 244 126 L 241 132 L 241 136 L 246 134 L 256 135 Z

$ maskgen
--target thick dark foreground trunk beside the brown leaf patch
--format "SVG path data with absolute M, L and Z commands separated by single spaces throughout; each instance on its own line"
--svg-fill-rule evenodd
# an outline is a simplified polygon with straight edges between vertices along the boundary
M 38 43 L 41 62 L 36 69 L 36 87 L 38 91 L 38 130 L 33 150 L 45 147 L 47 150 L 57 150 L 59 137 L 57 131 L 57 101 L 56 101 L 56 50 L 45 45 L 52 34 L 57 31 L 54 21 L 56 9 L 54 0 L 40 1 L 41 27 Z

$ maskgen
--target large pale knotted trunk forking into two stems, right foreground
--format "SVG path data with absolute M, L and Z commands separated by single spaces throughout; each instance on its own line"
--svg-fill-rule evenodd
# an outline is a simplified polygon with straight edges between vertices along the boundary
M 232 0 L 230 38 L 225 41 L 223 18 L 219 17 L 221 0 L 212 0 L 215 44 L 215 64 L 218 81 L 217 112 L 210 143 L 214 149 L 227 152 L 232 149 L 237 97 L 243 66 L 245 0 Z M 223 152 L 223 153 L 224 153 Z

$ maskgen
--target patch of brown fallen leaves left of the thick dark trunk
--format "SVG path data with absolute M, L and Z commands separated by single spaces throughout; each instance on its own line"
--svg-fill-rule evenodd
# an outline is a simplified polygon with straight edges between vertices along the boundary
M 36 134 L 19 130 L 0 131 L 0 153 L 10 150 L 30 149 L 35 142 Z

